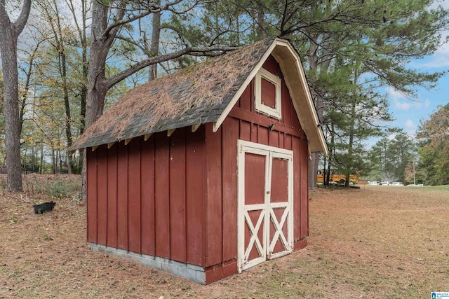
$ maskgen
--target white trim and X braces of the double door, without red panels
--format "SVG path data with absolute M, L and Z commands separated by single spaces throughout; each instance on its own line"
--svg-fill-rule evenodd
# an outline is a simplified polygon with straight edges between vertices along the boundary
M 237 141 L 238 155 L 237 155 L 237 196 L 238 196 L 238 212 L 237 212 L 237 267 L 239 272 L 253 267 L 258 263 L 262 263 L 267 258 L 276 258 L 284 256 L 293 251 L 293 151 L 283 148 L 276 148 L 274 146 L 266 146 L 263 144 L 256 144 L 250 141 Z M 264 203 L 263 204 L 245 204 L 245 154 L 253 153 L 265 156 L 265 186 L 264 188 Z M 273 202 L 271 203 L 271 185 L 272 185 L 272 160 L 279 158 L 288 161 L 288 202 Z M 280 221 L 277 221 L 274 214 L 275 208 L 284 208 L 283 215 Z M 257 223 L 254 225 L 249 217 L 248 211 L 260 210 L 261 214 L 257 218 Z M 262 226 L 263 222 L 263 227 Z M 282 228 L 287 222 L 288 236 L 286 237 Z M 251 233 L 248 248 L 245 248 L 245 225 L 248 223 L 248 228 Z M 273 223 L 276 232 L 270 243 L 269 229 L 270 223 Z M 257 232 L 263 229 L 262 242 L 257 237 Z M 272 254 L 274 246 L 278 239 L 286 248 L 286 251 Z M 269 244 L 270 243 L 270 244 Z M 250 251 L 256 246 L 260 257 L 253 260 L 248 260 Z

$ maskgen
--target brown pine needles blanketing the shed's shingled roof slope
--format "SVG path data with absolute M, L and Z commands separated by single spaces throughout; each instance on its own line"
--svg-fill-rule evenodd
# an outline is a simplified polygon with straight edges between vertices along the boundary
M 126 136 L 126 132 L 138 116 L 145 116 L 146 123 L 139 132 L 143 135 L 158 132 L 155 125 L 161 120 L 180 117 L 201 106 L 222 104 L 227 95 L 240 88 L 243 81 L 239 79 L 250 74 L 269 44 L 269 40 L 259 41 L 133 88 L 88 127 L 72 148 L 85 147 L 89 139 L 105 134 L 115 140 L 135 137 Z

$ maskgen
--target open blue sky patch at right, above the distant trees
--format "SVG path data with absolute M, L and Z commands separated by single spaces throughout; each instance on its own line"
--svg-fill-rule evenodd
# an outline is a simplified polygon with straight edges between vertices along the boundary
M 449 0 L 439 2 L 441 6 L 449 9 Z M 445 32 L 448 36 L 449 32 Z M 410 68 L 420 71 L 448 71 L 449 70 L 449 44 L 445 43 L 434 55 L 410 62 Z M 408 99 L 392 88 L 387 88 L 391 114 L 396 118 L 392 127 L 401 127 L 404 132 L 411 137 L 415 137 L 415 132 L 420 120 L 428 120 L 431 113 L 438 109 L 438 105 L 449 103 L 449 74 L 446 74 L 438 81 L 438 86 L 432 90 L 419 88 L 417 99 Z

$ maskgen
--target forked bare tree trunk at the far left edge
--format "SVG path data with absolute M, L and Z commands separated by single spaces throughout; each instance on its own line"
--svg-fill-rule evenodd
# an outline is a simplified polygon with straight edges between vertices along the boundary
M 30 9 L 31 0 L 24 0 L 19 18 L 13 23 L 6 13 L 5 0 L 0 0 L 0 49 L 4 77 L 7 188 L 11 191 L 22 190 L 17 39 L 27 23 Z

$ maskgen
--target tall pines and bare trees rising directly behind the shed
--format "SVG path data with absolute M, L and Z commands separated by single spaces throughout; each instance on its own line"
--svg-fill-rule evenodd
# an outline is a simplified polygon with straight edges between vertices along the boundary
M 66 148 L 129 88 L 272 36 L 302 57 L 326 168 L 368 172 L 363 142 L 392 119 L 382 88 L 434 87 L 443 73 L 408 62 L 434 53 L 445 29 L 448 11 L 431 0 L 0 0 L 8 190 L 21 189 L 22 164 L 79 172 L 82 156 Z

